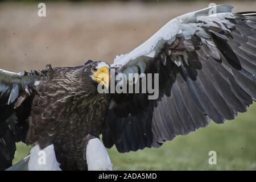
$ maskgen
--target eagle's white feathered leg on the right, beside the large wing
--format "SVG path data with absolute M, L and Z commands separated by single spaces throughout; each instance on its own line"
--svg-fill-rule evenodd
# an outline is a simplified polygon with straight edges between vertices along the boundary
M 104 144 L 98 138 L 90 139 L 86 146 L 89 171 L 112 171 L 112 163 Z

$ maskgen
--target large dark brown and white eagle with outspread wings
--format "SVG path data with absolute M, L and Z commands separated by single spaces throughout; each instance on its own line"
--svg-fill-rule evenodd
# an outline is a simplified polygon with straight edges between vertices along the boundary
M 245 112 L 256 98 L 256 12 L 232 8 L 177 16 L 113 64 L 0 69 L 0 169 L 11 166 L 16 142 L 33 146 L 28 169 L 35 169 L 35 151 L 51 152 L 50 163 L 61 170 L 111 169 L 105 147 L 160 147 L 210 120 L 224 123 Z M 151 81 L 158 97 L 150 99 L 142 87 L 139 93 L 98 92 L 99 85 L 113 88 L 118 74 L 126 75 L 114 81 L 121 88 L 134 84 L 129 74 L 157 74 Z

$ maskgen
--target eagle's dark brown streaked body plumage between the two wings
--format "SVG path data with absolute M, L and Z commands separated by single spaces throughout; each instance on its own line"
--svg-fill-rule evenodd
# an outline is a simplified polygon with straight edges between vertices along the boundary
M 53 143 L 61 169 L 87 169 L 85 148 L 89 136 L 100 135 L 108 99 L 98 94 L 84 66 L 47 71 L 36 86 L 27 144 Z

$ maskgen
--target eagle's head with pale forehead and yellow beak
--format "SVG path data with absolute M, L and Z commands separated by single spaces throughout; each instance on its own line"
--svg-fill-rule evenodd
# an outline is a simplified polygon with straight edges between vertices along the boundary
M 88 63 L 89 62 L 89 63 Z M 110 65 L 104 61 L 88 61 L 85 63 L 86 69 L 90 72 L 90 77 L 97 84 L 102 84 L 109 88 Z

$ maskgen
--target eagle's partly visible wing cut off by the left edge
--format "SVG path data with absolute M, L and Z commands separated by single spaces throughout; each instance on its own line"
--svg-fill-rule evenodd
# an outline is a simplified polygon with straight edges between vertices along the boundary
M 11 166 L 15 142 L 26 140 L 34 84 L 43 75 L 37 71 L 13 73 L 0 69 L 1 170 Z

